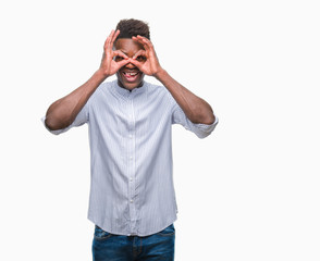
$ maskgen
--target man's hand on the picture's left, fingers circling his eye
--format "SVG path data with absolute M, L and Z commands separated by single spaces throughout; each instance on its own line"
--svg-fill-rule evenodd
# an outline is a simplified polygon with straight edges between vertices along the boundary
M 122 66 L 126 65 L 130 62 L 128 57 L 125 55 L 122 51 L 113 50 L 113 44 L 119 34 L 120 30 L 112 30 L 103 46 L 104 51 L 100 64 L 100 71 L 106 77 L 115 74 Z M 123 59 L 121 59 L 121 61 L 114 61 L 114 57 L 121 57 Z

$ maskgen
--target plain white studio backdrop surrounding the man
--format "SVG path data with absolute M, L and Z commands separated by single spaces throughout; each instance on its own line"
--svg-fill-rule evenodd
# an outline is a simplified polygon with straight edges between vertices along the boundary
M 40 117 L 134 17 L 220 120 L 202 140 L 173 126 L 175 260 L 319 261 L 319 12 L 308 0 L 2 1 L 0 260 L 91 259 L 87 126 L 53 136 Z

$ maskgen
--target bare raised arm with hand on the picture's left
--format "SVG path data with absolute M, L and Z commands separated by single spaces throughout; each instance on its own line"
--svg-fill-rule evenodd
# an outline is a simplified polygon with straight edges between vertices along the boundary
M 128 63 L 128 58 L 123 52 L 112 50 L 113 42 L 119 34 L 119 30 L 112 30 L 108 36 L 103 46 L 103 55 L 98 71 L 96 71 L 85 84 L 49 107 L 46 114 L 46 125 L 49 129 L 61 129 L 72 124 L 98 86 L 107 77 L 115 74 L 119 69 Z M 124 59 L 120 62 L 115 62 L 113 58 L 116 55 Z

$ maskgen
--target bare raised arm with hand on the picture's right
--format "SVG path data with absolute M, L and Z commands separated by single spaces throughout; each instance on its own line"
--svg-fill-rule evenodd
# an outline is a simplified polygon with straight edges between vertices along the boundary
M 144 45 L 145 50 L 137 52 L 130 61 L 145 74 L 160 80 L 193 123 L 212 124 L 216 116 L 209 103 L 177 83 L 160 66 L 152 42 L 141 36 L 133 39 Z M 138 57 L 146 59 L 140 62 L 137 60 Z

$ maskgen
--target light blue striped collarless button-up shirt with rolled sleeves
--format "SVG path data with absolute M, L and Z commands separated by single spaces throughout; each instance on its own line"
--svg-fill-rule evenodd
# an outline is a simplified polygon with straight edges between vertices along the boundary
M 44 119 L 45 120 L 45 119 Z M 218 124 L 192 123 L 163 86 L 144 83 L 128 91 L 102 83 L 75 121 L 87 123 L 91 183 L 88 219 L 118 235 L 148 236 L 176 220 L 172 173 L 172 124 L 199 138 Z

